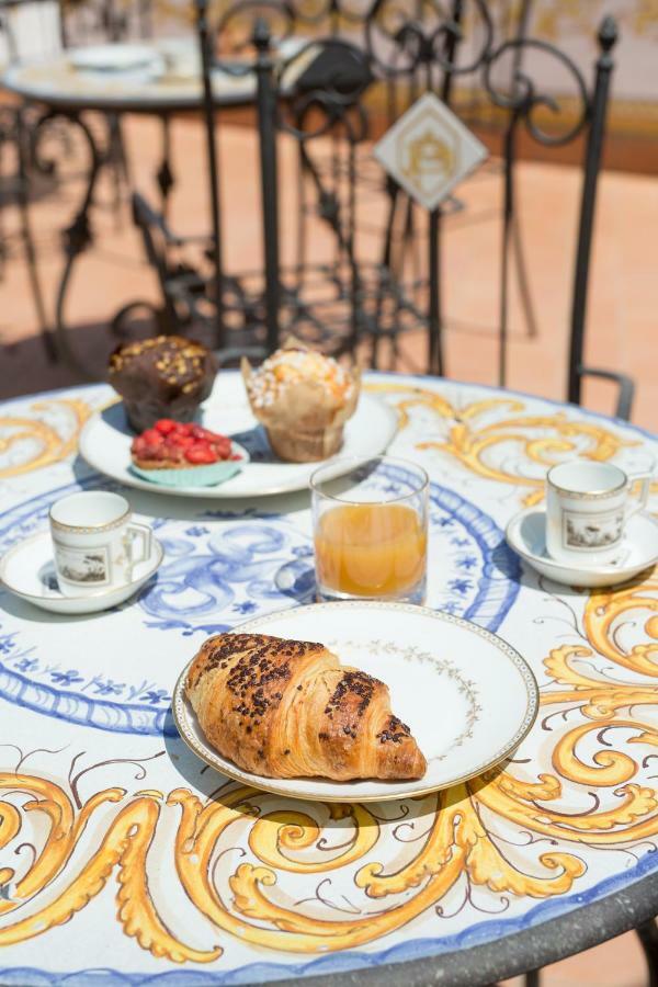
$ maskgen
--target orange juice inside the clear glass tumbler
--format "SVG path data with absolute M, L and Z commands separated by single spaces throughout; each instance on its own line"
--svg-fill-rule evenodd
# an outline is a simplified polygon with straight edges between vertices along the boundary
M 315 533 L 320 586 L 358 597 L 393 597 L 423 577 L 428 537 L 418 513 L 399 503 L 330 508 Z

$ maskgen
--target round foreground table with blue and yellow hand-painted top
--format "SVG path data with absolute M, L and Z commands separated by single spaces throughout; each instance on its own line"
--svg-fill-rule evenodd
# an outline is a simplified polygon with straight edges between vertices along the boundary
M 131 490 L 166 548 L 137 599 L 65 619 L 0 594 L 0 983 L 475 987 L 658 911 L 658 580 L 568 589 L 503 538 L 548 464 L 646 469 L 655 440 L 509 392 L 365 383 L 399 411 L 392 453 L 431 477 L 428 604 L 523 654 L 533 730 L 504 771 L 416 801 L 238 790 L 180 740 L 171 690 L 207 634 L 313 600 L 308 496 Z M 2 407 L 1 549 L 54 499 L 107 486 L 76 443 L 110 400 L 97 385 Z

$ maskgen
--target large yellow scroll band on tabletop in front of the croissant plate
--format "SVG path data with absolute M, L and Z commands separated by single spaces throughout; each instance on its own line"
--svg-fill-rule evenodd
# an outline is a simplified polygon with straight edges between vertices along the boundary
M 620 622 L 636 626 L 638 613 L 644 614 L 642 639 L 624 647 Z M 586 848 L 628 848 L 658 836 L 658 792 L 636 780 L 642 758 L 658 746 L 658 730 L 646 712 L 644 716 L 634 712 L 658 705 L 658 575 L 592 593 L 581 625 L 581 631 L 575 625 L 577 644 L 560 645 L 544 660 L 549 681 L 542 690 L 542 706 L 569 716 L 556 730 L 551 770 L 524 778 L 517 764 L 510 764 L 466 785 L 409 801 L 408 819 L 422 820 L 427 831 L 401 863 L 386 862 L 390 824 L 382 819 L 377 806 L 315 803 L 300 808 L 290 802 L 269 810 L 266 801 L 272 796 L 228 783 L 207 801 L 188 789 L 164 795 L 111 787 L 76 810 L 71 796 L 53 781 L 0 774 L 0 790 L 14 796 L 24 793 L 27 799 L 20 807 L 8 794 L 0 799 L 0 852 L 25 838 L 21 830 L 26 817 L 39 814 L 48 825 L 47 838 L 26 872 L 16 876 L 12 867 L 0 867 L 0 887 L 4 884 L 9 890 L 0 895 L 0 946 L 68 921 L 113 878 L 124 933 L 154 956 L 174 963 L 212 962 L 230 950 L 231 937 L 297 954 L 363 945 L 436 907 L 458 882 L 508 896 L 565 894 L 586 872 L 581 855 Z M 604 659 L 604 671 L 592 660 L 597 656 L 600 666 Z M 538 723 L 535 739 L 537 730 L 541 734 Z M 597 749 L 586 757 L 581 745 L 592 735 Z M 526 744 L 532 745 L 532 735 Z M 523 770 L 531 772 L 530 767 Z M 576 796 L 609 792 L 610 804 L 597 799 L 594 809 L 579 813 L 570 805 L 567 814 L 560 809 L 567 791 Z M 576 797 L 576 804 L 579 801 Z M 512 862 L 496 827 L 487 828 L 484 809 L 526 835 L 548 837 L 554 846 L 537 850 L 535 842 L 541 841 L 533 840 L 524 849 L 523 862 Z M 101 826 L 99 814 L 109 810 L 114 815 Z M 149 887 L 149 848 L 163 812 L 178 814 L 169 866 L 189 901 L 208 920 L 202 926 L 205 943 L 182 941 L 166 924 Z M 348 839 L 329 850 L 325 837 L 336 820 L 347 824 Z M 215 863 L 227 840 L 234 846 L 235 827 L 242 833 L 245 850 L 241 862 L 229 866 L 227 887 L 220 893 Z M 93 848 L 86 851 L 83 862 L 77 858 L 75 862 L 88 828 Z M 160 856 L 159 867 L 163 866 Z M 347 916 L 320 918 L 313 904 L 285 894 L 288 875 L 339 873 L 341 889 L 351 887 L 362 900 Z M 52 888 L 55 878 L 57 890 Z M 30 915 L 23 917 L 27 903 Z

